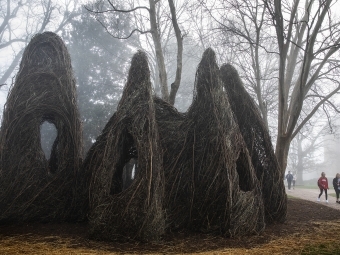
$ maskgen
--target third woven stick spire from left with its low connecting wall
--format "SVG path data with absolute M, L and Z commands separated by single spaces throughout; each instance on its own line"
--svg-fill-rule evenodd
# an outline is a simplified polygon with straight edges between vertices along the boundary
M 184 115 L 155 100 L 170 228 L 223 236 L 258 233 L 265 226 L 261 183 L 211 49 L 198 66 L 195 88 Z

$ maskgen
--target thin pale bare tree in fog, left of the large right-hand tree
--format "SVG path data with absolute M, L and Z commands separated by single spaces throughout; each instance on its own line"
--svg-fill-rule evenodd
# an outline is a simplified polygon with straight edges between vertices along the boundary
M 236 66 L 250 94 L 256 99 L 268 126 L 268 112 L 277 106 L 274 40 L 269 34 L 265 5 L 261 0 L 223 0 L 200 6 L 215 23 L 210 31 L 214 48 L 222 48 L 223 61 Z M 205 36 L 206 37 L 206 36 Z

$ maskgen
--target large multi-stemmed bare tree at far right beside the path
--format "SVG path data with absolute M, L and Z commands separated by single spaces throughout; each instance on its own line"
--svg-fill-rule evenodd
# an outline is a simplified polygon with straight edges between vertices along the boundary
M 340 48 L 340 23 L 332 14 L 331 0 L 306 0 L 302 5 L 298 0 L 290 5 L 280 0 L 264 2 L 275 27 L 279 50 L 275 153 L 284 171 L 292 139 L 320 107 L 327 103 L 335 106 L 330 98 L 340 89 L 339 62 L 333 58 Z M 286 13 L 290 13 L 289 17 Z M 321 83 L 323 88 L 317 90 Z M 303 104 L 308 97 L 315 100 L 314 107 L 301 120 Z

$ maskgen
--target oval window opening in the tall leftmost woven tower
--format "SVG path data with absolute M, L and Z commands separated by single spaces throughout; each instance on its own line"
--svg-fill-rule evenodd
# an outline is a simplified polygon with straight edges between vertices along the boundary
M 47 160 L 51 157 L 51 150 L 56 137 L 57 129 L 54 124 L 45 121 L 40 125 L 40 144 Z

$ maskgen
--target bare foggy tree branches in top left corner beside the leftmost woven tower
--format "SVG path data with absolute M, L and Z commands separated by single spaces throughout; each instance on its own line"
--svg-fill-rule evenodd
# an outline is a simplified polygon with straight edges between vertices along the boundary
M 0 70 L 0 84 L 13 75 L 31 37 L 46 30 L 58 33 L 77 15 L 77 5 L 77 0 L 7 0 L 0 5 L 0 54 L 6 54 L 8 63 Z

